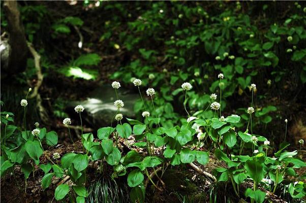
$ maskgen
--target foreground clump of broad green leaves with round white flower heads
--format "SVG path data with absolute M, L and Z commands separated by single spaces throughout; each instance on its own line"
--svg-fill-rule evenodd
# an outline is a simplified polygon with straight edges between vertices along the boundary
M 71 152 L 62 157 L 56 153 L 49 157 L 44 153 L 44 145 L 57 144 L 56 132 L 47 132 L 46 128 L 39 127 L 39 123 L 35 123 L 33 130 L 25 128 L 26 96 L 20 103 L 24 112 L 23 127 L 10 124 L 13 123 L 12 113 L 1 113 L 1 123 L 4 126 L 2 128 L 4 136 L 1 138 L 1 176 L 8 172 L 14 173 L 13 167 L 20 165 L 27 179 L 30 173 L 35 174 L 36 166 L 39 166 L 45 173 L 41 180 L 45 189 L 50 186 L 53 177 L 62 179 L 64 175 L 68 175 L 73 184 L 58 185 L 54 197 L 56 200 L 62 200 L 68 196 L 71 202 L 80 203 L 85 202 L 88 195 L 90 199 L 93 198 L 93 189 L 88 192 L 85 187 L 88 180 L 87 170 L 90 162 L 99 161 L 100 172 L 104 170 L 104 164 L 107 164 L 113 168 L 112 178 L 126 177 L 130 187 L 131 202 L 144 202 L 148 184 L 158 191 L 163 191 L 163 176 L 168 167 L 194 165 L 194 163 L 205 165 L 213 152 L 213 155 L 223 161 L 225 166 L 215 168 L 213 174 L 206 173 L 206 176 L 213 184 L 218 182 L 230 184 L 237 199 L 244 198 L 250 199 L 252 203 L 261 203 L 265 199 L 271 201 L 274 194 L 282 194 L 282 197 L 290 201 L 304 198 L 303 177 L 295 172 L 296 168 L 306 166 L 306 163 L 297 156 L 299 151 L 285 151 L 290 144 L 284 141 L 278 151 L 270 152 L 272 150 L 270 142 L 264 136 L 253 132 L 252 118 L 255 113 L 253 97 L 256 85 L 250 86 L 252 100 L 244 112 L 248 116 L 247 126 L 241 125 L 239 115 L 223 116 L 222 95 L 226 92 L 223 91 L 222 84 L 225 78 L 223 74 L 218 75 L 220 95 L 212 93 L 209 104 L 196 115 L 190 115 L 186 105 L 193 86 L 190 83 L 183 83 L 181 85 L 185 98 L 183 108 L 188 117 L 181 119 L 180 124 L 173 127 L 161 125 L 161 115 L 157 111 L 155 101 L 155 96 L 159 92 L 148 88 L 146 96 L 143 96 L 139 88 L 143 84 L 139 79 L 135 79 L 133 84 L 139 90 L 142 100 L 143 119 L 124 118 L 120 112 L 125 104 L 117 94 L 120 83 L 115 81 L 112 87 L 115 91 L 114 106 L 117 112 L 112 124 L 115 122 L 116 126 L 111 124 L 100 128 L 97 139 L 94 139 L 93 133 L 83 133 L 81 130 L 83 152 Z M 81 125 L 83 111 L 81 105 L 75 107 Z M 123 123 L 125 119 L 127 122 Z M 70 118 L 64 119 L 63 123 L 70 132 Z M 47 164 L 40 164 L 40 157 L 43 154 L 49 160 Z M 156 177 L 161 185 L 152 177 Z M 102 185 L 108 187 L 109 184 Z M 241 188 L 245 185 L 247 188 L 241 192 Z M 111 191 L 107 188 L 103 190 Z M 120 198 L 119 193 L 110 195 Z M 107 199 L 103 196 L 99 198 Z M 213 197 L 210 198 L 213 200 Z

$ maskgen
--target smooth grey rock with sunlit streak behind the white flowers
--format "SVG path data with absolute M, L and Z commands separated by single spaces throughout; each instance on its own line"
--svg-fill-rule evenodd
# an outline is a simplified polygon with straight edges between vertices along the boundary
M 124 108 L 120 108 L 120 113 L 124 117 L 134 118 L 133 111 L 135 102 L 139 99 L 139 95 L 131 93 L 129 90 L 120 88 L 117 90 L 118 98 L 125 104 Z M 73 101 L 73 107 L 82 105 L 85 108 L 82 118 L 90 123 L 94 128 L 109 126 L 112 118 L 117 113 L 114 101 L 117 100 L 115 90 L 111 85 L 103 85 L 88 94 L 87 99 L 82 101 Z M 113 121 L 113 126 L 116 121 Z

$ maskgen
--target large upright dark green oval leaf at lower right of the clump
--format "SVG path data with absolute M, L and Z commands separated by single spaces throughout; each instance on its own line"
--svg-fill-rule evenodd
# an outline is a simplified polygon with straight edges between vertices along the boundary
M 260 183 L 260 181 L 264 178 L 264 171 L 261 163 L 256 160 L 248 160 L 244 165 L 244 168 L 247 170 L 248 175 L 252 178 L 256 183 Z

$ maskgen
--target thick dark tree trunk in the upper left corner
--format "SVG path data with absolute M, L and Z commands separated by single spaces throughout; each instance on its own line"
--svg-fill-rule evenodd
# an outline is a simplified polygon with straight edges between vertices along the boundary
M 8 20 L 9 44 L 11 47 L 8 67 L 4 67 L 4 69 L 8 74 L 16 74 L 25 70 L 28 47 L 17 2 L 5 1 L 3 7 Z

